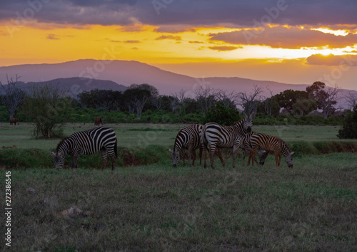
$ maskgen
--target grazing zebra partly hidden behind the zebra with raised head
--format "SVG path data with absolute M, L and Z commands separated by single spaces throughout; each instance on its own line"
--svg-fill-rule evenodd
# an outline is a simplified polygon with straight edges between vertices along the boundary
M 200 164 L 202 159 L 201 148 L 201 131 L 202 125 L 188 125 L 183 127 L 176 135 L 174 149 L 168 149 L 171 152 L 172 164 L 177 166 L 178 161 L 183 157 L 183 165 L 185 165 L 185 152 L 184 149 L 188 149 L 188 163 L 191 167 L 191 157 L 193 159 L 193 165 L 196 159 L 196 149 L 200 149 Z

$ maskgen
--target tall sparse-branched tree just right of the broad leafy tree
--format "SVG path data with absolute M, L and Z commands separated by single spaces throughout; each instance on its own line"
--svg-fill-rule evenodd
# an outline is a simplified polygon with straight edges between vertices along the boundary
M 306 88 L 308 98 L 316 101 L 316 105 L 323 111 L 323 118 L 327 118 L 335 112 L 333 105 L 337 103 L 338 87 L 326 88 L 325 83 L 316 81 L 313 85 Z

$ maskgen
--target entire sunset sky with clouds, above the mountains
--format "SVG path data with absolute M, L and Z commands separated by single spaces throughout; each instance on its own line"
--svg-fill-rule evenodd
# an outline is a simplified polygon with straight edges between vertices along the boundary
M 1 1 L 0 66 L 85 58 L 357 90 L 357 1 Z

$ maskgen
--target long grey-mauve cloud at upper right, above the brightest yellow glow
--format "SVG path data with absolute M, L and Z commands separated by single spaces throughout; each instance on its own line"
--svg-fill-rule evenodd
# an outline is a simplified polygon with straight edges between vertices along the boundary
M 357 34 L 335 36 L 331 33 L 283 26 L 210 34 L 212 41 L 241 45 L 265 45 L 272 48 L 322 47 L 344 48 L 357 42 Z

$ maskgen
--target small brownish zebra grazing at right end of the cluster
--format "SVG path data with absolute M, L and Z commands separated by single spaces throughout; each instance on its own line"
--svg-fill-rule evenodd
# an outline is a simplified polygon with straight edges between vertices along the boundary
M 248 138 L 248 137 L 247 137 Z M 286 164 L 289 168 L 293 168 L 293 154 L 286 145 L 286 142 L 281 140 L 278 137 L 271 135 L 266 135 L 263 133 L 253 133 L 250 139 L 246 139 L 244 147 L 249 152 L 248 165 L 252 161 L 254 164 L 253 157 L 256 155 L 258 148 L 264 149 L 267 152 L 273 152 L 275 155 L 276 167 L 280 165 L 281 162 L 281 153 L 285 157 Z

